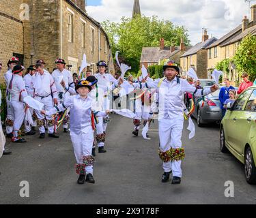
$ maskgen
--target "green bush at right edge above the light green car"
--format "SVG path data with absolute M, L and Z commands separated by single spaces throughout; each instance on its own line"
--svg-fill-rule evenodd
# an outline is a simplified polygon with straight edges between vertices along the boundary
M 247 35 L 242 40 L 234 57 L 240 75 L 246 72 L 252 81 L 256 78 L 256 35 Z

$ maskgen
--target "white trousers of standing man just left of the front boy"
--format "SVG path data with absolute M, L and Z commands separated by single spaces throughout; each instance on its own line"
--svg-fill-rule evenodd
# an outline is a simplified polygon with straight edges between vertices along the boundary
M 44 104 L 43 110 L 48 111 L 48 110 L 51 110 L 53 108 L 53 99 L 52 99 L 51 95 L 49 95 L 48 97 L 44 97 L 43 99 L 42 99 L 42 97 L 35 96 L 35 100 Z M 39 120 L 44 121 L 45 116 L 42 115 L 39 110 L 35 110 L 35 114 L 36 114 L 36 116 L 38 116 Z M 52 116 L 46 116 L 46 120 L 47 121 L 52 121 L 53 117 Z M 39 126 L 40 134 L 44 134 L 45 133 L 44 125 L 38 125 L 38 126 Z M 54 132 L 54 125 L 48 126 L 48 134 L 53 134 L 53 132 Z

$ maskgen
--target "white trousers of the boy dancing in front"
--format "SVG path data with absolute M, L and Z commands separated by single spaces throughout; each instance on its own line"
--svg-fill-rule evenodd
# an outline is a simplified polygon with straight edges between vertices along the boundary
M 81 131 L 81 134 L 70 132 L 71 141 L 74 148 L 76 162 L 83 164 L 83 157 L 91 156 L 92 147 L 94 146 L 94 130 L 91 125 Z M 93 166 L 85 166 L 86 174 L 93 174 Z

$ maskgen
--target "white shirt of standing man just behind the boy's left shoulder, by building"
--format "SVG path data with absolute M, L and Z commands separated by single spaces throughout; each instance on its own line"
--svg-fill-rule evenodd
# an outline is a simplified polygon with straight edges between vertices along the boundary
M 65 82 L 66 87 L 74 88 L 74 80 L 71 73 L 68 71 L 68 69 L 63 69 L 62 72 L 59 69 L 55 69 L 52 76 L 53 76 L 53 79 L 55 80 L 55 85 L 58 93 L 66 93 L 66 90 L 63 89 L 63 87 L 59 83 L 59 76 L 63 76 L 63 81 Z

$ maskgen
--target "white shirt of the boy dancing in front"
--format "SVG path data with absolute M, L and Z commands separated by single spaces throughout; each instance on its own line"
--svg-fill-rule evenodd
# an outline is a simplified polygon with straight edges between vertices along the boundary
M 87 133 L 87 127 L 91 125 L 92 99 L 86 99 L 80 95 L 70 96 L 63 104 L 46 112 L 47 115 L 55 114 L 70 108 L 70 131 L 76 134 Z M 98 112 L 96 116 L 106 116 L 106 112 Z

